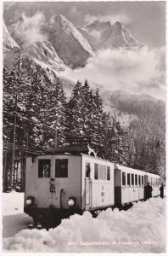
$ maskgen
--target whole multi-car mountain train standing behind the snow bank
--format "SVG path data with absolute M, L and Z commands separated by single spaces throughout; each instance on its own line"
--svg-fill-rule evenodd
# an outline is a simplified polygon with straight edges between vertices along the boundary
M 96 215 L 143 200 L 147 183 L 153 187 L 152 196 L 160 195 L 160 176 L 114 164 L 90 151 L 54 148 L 27 157 L 24 210 L 35 223 L 59 224 L 74 213 Z

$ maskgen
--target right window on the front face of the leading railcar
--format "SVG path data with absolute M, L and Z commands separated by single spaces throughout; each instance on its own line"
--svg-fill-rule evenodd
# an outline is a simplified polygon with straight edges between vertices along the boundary
M 68 160 L 55 160 L 55 177 L 68 177 Z

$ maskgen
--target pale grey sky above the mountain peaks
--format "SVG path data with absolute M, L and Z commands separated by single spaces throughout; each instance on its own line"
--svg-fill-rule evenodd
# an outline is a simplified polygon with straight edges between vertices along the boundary
M 95 16 L 119 20 L 126 24 L 137 40 L 149 47 L 165 45 L 165 2 L 106 3 L 8 3 L 4 4 L 4 19 L 17 20 L 22 12 L 34 15 L 41 11 L 46 18 L 65 15 L 76 26 L 84 26 Z

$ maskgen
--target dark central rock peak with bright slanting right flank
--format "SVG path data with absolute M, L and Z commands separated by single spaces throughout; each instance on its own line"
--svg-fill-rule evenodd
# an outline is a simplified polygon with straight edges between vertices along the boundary
M 87 39 L 63 15 L 55 16 L 52 23 L 43 26 L 42 31 L 69 67 L 84 67 L 88 57 L 94 54 Z

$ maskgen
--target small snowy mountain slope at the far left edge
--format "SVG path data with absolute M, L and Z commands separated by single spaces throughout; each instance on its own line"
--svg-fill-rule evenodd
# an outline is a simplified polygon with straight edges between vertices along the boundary
M 20 49 L 19 44 L 14 41 L 8 32 L 7 26 L 3 23 L 3 51 L 10 51 L 11 49 Z

